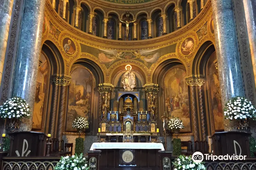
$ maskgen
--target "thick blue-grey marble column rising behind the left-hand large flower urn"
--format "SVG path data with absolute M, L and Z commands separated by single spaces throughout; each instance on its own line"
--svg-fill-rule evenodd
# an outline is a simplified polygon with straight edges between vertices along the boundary
M 39 56 L 41 52 L 42 26 L 46 0 L 24 1 L 23 17 L 19 37 L 16 69 L 12 96 L 22 97 L 33 113 Z M 32 117 L 22 119 L 21 131 L 30 131 Z

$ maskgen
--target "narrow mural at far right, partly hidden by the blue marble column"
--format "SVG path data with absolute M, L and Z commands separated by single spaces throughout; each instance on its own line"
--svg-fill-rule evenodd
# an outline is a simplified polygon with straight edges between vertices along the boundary
M 224 129 L 224 120 L 221 105 L 220 83 L 218 70 L 215 67 L 214 60 L 216 60 L 216 52 L 210 56 L 208 61 L 208 78 L 212 101 L 214 128 L 215 131 L 222 131 Z

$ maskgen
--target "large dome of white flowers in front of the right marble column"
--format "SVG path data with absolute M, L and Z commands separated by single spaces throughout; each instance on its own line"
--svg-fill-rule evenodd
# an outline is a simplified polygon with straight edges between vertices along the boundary
M 230 120 L 255 119 L 255 107 L 244 97 L 233 97 L 225 104 L 224 117 Z

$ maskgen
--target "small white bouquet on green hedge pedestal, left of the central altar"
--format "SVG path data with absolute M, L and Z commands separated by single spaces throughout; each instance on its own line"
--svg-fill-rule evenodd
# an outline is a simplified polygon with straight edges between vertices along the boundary
M 76 138 L 75 154 L 80 155 L 84 151 L 84 138 L 81 138 L 81 133 L 89 128 L 89 124 L 86 118 L 78 117 L 73 121 L 72 127 L 76 128 L 79 133 L 79 137 Z

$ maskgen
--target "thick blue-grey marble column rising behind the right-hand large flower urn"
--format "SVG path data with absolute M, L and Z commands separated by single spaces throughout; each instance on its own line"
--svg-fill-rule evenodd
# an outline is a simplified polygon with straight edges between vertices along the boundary
M 231 97 L 244 96 L 243 81 L 238 54 L 236 27 L 232 10 L 232 0 L 212 0 L 214 36 L 218 60 L 218 73 L 221 89 L 221 103 Z M 233 130 L 234 125 L 224 119 L 225 131 Z

